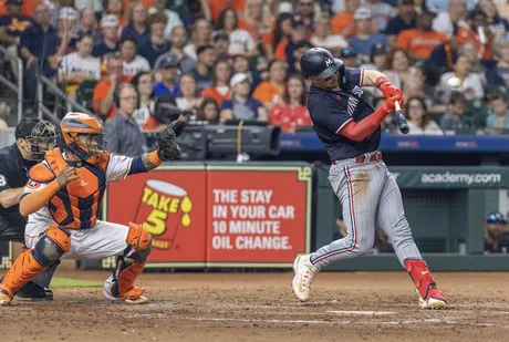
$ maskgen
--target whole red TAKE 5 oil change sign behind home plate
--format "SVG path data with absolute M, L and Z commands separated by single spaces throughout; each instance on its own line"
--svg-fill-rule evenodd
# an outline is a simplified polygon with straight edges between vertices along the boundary
M 311 176 L 309 166 L 164 166 L 110 183 L 105 217 L 152 234 L 147 267 L 291 267 L 310 249 Z

